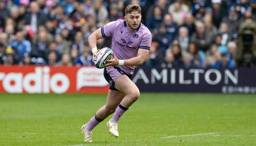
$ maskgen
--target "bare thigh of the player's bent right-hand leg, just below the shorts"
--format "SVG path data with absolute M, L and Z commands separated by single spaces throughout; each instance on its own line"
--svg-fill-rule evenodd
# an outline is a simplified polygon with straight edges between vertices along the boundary
M 122 75 L 116 79 L 115 88 L 119 91 L 123 91 L 126 94 L 131 94 L 134 91 L 139 92 L 138 87 L 126 75 Z

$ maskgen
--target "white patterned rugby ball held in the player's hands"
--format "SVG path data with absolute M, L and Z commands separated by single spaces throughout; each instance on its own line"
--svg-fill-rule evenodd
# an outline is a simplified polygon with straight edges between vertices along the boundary
M 105 47 L 100 49 L 94 58 L 96 68 L 104 68 L 108 63 L 107 60 L 112 59 L 112 55 L 113 52 L 111 48 Z

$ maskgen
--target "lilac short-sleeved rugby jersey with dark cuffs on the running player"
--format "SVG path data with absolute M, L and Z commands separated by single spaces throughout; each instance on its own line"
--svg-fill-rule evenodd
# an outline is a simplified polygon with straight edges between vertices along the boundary
M 138 49 L 150 50 L 151 33 L 142 23 L 137 30 L 131 31 L 125 20 L 118 19 L 101 28 L 103 37 L 112 36 L 112 51 L 118 59 L 136 57 Z M 134 72 L 135 66 L 118 66 L 129 75 Z

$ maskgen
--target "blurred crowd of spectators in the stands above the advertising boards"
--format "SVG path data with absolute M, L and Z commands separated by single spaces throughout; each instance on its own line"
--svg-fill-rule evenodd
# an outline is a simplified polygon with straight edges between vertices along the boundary
M 0 64 L 94 65 L 88 36 L 129 4 L 152 33 L 143 66 L 255 66 L 256 0 L 0 0 Z

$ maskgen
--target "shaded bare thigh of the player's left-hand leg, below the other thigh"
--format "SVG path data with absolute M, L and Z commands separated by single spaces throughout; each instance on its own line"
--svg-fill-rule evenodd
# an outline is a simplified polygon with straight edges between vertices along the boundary
M 110 109 L 116 108 L 119 105 L 119 103 L 122 101 L 124 96 L 125 96 L 125 93 L 122 91 L 108 90 L 106 107 Z

